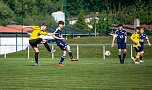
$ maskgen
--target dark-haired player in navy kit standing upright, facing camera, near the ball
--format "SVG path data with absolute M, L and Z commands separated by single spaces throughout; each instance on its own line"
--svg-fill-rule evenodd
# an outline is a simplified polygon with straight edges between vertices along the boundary
M 118 30 L 115 31 L 113 35 L 112 45 L 114 47 L 115 39 L 117 38 L 117 45 L 118 45 L 118 57 L 121 64 L 124 64 L 124 59 L 126 57 L 126 42 L 127 42 L 127 32 L 123 29 L 123 25 L 118 25 Z M 123 55 L 122 55 L 123 50 Z M 123 57 L 122 57 L 123 56 Z

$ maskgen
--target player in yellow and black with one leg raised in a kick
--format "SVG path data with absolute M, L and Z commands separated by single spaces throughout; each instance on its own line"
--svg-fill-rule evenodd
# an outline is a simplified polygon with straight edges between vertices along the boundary
M 52 36 L 52 34 L 48 34 L 45 30 L 47 29 L 47 25 L 43 23 L 41 27 L 39 26 L 23 26 L 22 28 L 27 27 L 27 28 L 32 28 L 33 31 L 30 35 L 29 39 L 29 44 L 32 46 L 33 50 L 35 51 L 35 66 L 39 66 L 38 63 L 38 53 L 39 49 L 37 47 L 37 44 L 44 44 L 45 48 L 50 52 L 54 53 L 55 51 L 51 51 L 49 45 L 47 44 L 46 40 L 39 38 L 40 35 L 48 35 Z

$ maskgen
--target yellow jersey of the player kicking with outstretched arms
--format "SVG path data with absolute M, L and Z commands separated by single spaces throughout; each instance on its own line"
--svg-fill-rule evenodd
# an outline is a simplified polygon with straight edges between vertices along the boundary
M 41 30 L 39 26 L 32 26 L 33 32 L 30 35 L 30 40 L 37 39 L 40 35 L 47 35 L 47 32 Z

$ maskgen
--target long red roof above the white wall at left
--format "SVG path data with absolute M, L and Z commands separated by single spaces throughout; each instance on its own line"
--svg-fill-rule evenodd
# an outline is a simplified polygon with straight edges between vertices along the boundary
M 31 31 L 31 28 L 24 28 L 22 29 L 22 25 L 7 25 L 7 26 L 0 26 L 0 32 L 27 32 Z

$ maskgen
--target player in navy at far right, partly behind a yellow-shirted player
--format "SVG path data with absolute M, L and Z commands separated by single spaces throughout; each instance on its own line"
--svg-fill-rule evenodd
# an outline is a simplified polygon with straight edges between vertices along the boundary
M 144 61 L 142 60 L 143 54 L 144 54 L 144 41 L 148 42 L 148 45 L 151 46 L 149 42 L 149 38 L 146 34 L 144 34 L 144 28 L 140 28 L 140 45 L 141 45 L 141 55 L 140 55 L 140 63 L 143 63 Z

